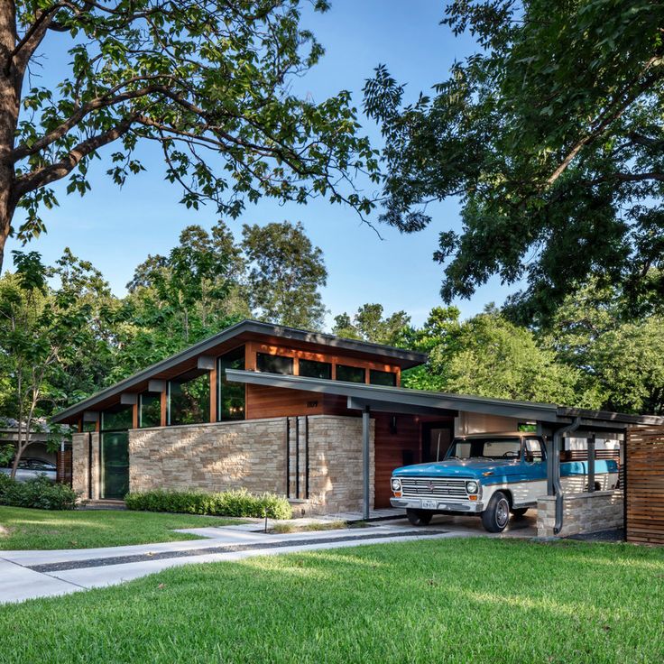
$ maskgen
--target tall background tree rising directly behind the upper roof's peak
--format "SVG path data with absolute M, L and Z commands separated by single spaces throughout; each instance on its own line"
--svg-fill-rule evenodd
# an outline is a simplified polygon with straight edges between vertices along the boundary
M 327 282 L 323 252 L 298 222 L 242 227 L 249 265 L 249 297 L 258 317 L 272 323 L 321 329 L 326 309 L 319 289 Z

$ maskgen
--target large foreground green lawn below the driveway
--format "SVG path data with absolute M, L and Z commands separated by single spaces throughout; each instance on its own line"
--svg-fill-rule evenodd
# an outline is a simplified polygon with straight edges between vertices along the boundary
M 420 540 L 6 605 L 0 661 L 659 664 L 662 615 L 664 549 Z

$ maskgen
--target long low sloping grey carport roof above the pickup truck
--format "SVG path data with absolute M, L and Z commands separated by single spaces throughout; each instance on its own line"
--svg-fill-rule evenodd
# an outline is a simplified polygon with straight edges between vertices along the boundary
M 348 408 L 387 410 L 420 414 L 447 414 L 450 411 L 500 415 L 523 420 L 538 420 L 567 424 L 580 418 L 582 426 L 595 429 L 625 429 L 628 426 L 664 425 L 664 418 L 656 415 L 628 415 L 604 410 L 586 410 L 558 406 L 536 401 L 490 399 L 467 394 L 410 390 L 404 387 L 386 387 L 365 383 L 346 383 L 303 376 L 266 374 L 239 369 L 226 369 L 226 377 L 235 383 L 250 383 L 292 390 L 346 396 Z

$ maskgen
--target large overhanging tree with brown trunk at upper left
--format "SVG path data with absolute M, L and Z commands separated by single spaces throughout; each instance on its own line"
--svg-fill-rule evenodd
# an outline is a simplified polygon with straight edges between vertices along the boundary
M 326 0 L 312 0 L 318 11 Z M 298 0 L 4 0 L 0 6 L 0 267 L 8 235 L 26 241 L 57 204 L 51 184 L 90 189 L 88 169 L 114 145 L 108 175 L 143 170 L 135 149 L 158 143 L 182 202 L 237 217 L 261 196 L 373 203 L 350 172 L 375 178 L 350 95 L 320 104 L 291 81 L 323 49 L 300 29 Z M 60 33 L 57 41 L 47 39 Z M 68 55 L 65 55 L 64 52 Z M 69 60 L 59 81 L 29 77 L 44 55 Z M 348 185 L 348 186 L 346 186 Z M 14 225 L 17 208 L 25 218 Z

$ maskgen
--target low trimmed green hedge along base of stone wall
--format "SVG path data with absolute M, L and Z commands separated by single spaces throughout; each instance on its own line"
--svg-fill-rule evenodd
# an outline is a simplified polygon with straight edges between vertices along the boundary
M 270 519 L 291 519 L 291 504 L 272 493 L 254 495 L 244 489 L 223 493 L 200 491 L 144 491 L 124 496 L 129 510 L 143 512 L 180 512 L 210 516 L 238 516 Z

